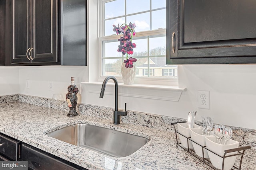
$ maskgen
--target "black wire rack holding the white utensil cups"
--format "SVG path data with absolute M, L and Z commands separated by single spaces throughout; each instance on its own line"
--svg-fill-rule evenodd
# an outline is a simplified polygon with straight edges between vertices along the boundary
M 174 131 L 175 131 L 175 135 L 176 135 L 176 147 L 181 147 L 182 149 L 186 150 L 187 152 L 189 152 L 191 155 L 193 155 L 194 157 L 198 158 L 198 160 L 204 162 L 204 164 L 208 165 L 209 167 L 211 167 L 212 169 L 214 170 L 219 170 L 218 168 L 214 167 L 210 161 L 209 158 L 204 158 L 204 149 L 206 150 L 209 150 L 206 148 L 206 146 L 202 146 L 200 145 L 199 143 L 196 143 L 195 141 L 193 141 L 190 137 L 186 137 L 182 134 L 180 134 L 178 132 L 178 130 L 176 130 L 176 127 L 175 125 L 177 125 L 178 123 L 186 123 L 187 121 L 180 121 L 180 122 L 174 122 L 174 123 L 171 123 L 171 125 L 173 125 L 174 127 Z M 181 143 L 178 143 L 178 136 L 177 136 L 177 133 L 182 135 L 183 137 L 185 137 L 187 139 L 187 143 L 188 143 L 188 140 L 192 141 L 193 143 L 196 143 L 197 145 L 199 145 L 200 147 L 202 147 L 202 157 L 198 156 L 196 154 L 196 152 L 193 150 L 193 149 L 190 149 L 189 146 L 187 146 L 187 148 L 183 147 L 181 145 Z M 188 143 L 189 144 L 189 143 Z M 235 165 L 233 166 L 232 170 L 241 170 L 241 165 L 242 165 L 242 160 L 243 160 L 243 156 L 244 156 L 244 152 L 245 150 L 247 149 L 250 149 L 251 147 L 250 146 L 245 146 L 245 147 L 238 147 L 238 148 L 234 148 L 234 149 L 228 149 L 228 150 L 224 150 L 224 155 L 219 155 L 215 152 L 213 152 L 212 150 L 209 150 L 210 152 L 212 152 L 213 154 L 216 154 L 217 156 L 220 156 L 222 158 L 222 170 L 224 170 L 224 160 L 225 158 L 228 158 L 228 157 L 231 157 L 231 156 L 237 156 L 237 155 L 240 155 L 241 158 L 240 158 L 240 164 L 239 164 L 239 168 L 236 167 Z M 226 155 L 228 153 L 231 153 L 231 152 L 234 152 L 234 154 L 229 154 L 229 155 Z

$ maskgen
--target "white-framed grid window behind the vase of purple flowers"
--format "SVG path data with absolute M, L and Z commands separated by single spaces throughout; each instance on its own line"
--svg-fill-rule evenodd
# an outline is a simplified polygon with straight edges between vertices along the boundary
M 126 59 L 118 53 L 120 35 L 112 25 L 135 23 L 136 77 L 177 78 L 177 66 L 166 65 L 166 0 L 99 0 L 100 76 L 120 76 Z M 149 72 L 148 72 L 149 70 Z M 163 71 L 166 70 L 166 71 Z

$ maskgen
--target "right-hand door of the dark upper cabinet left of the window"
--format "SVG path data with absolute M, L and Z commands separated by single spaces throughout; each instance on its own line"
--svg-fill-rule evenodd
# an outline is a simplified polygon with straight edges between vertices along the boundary
M 58 61 L 58 0 L 32 0 L 33 63 Z

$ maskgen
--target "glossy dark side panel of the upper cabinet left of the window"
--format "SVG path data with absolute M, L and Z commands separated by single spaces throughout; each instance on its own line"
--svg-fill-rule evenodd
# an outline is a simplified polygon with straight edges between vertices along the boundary
M 61 65 L 87 65 L 87 0 L 60 0 Z

